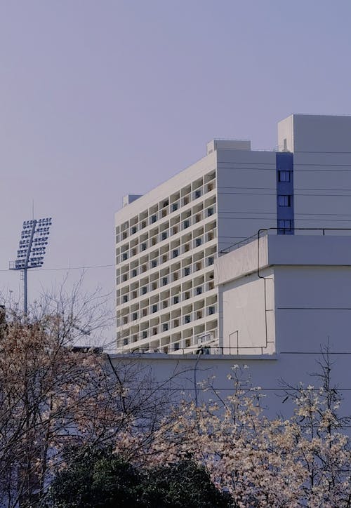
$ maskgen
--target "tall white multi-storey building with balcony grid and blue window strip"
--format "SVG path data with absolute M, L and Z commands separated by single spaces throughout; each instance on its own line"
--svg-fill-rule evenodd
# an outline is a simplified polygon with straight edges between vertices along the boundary
M 277 151 L 209 142 L 203 159 L 126 196 L 116 213 L 117 349 L 235 353 L 236 332 L 224 329 L 232 308 L 216 285 L 225 258 L 235 262 L 232 246 L 264 229 L 351 228 L 350 205 L 350 116 L 289 116 Z

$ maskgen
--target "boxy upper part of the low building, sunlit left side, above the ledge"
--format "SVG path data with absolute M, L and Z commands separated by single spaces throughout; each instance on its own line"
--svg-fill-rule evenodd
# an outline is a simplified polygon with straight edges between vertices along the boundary
M 334 337 L 351 352 L 350 236 L 264 236 L 219 258 L 215 282 L 224 347 L 315 354 Z

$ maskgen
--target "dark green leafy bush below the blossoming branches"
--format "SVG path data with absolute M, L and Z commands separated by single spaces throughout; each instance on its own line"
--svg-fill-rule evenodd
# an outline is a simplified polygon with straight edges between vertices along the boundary
M 55 508 L 225 508 L 206 469 L 191 459 L 139 472 L 112 450 L 72 448 L 49 489 L 46 506 Z

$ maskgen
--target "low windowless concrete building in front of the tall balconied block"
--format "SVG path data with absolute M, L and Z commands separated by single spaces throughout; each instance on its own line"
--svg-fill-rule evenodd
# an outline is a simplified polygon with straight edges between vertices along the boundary
M 286 386 L 319 387 L 329 349 L 332 385 L 343 396 L 341 413 L 351 403 L 351 235 L 277 235 L 261 232 L 215 262 L 218 305 L 223 307 L 223 347 L 202 353 L 115 354 L 113 361 L 132 362 L 144 372 L 149 368 L 157 382 L 176 375 L 179 397 L 206 401 L 213 394 L 231 394 L 227 375 L 237 364 L 265 394 L 268 415 L 292 414 L 282 404 Z M 180 352 L 178 352 L 180 353 Z M 216 353 L 216 354 L 213 354 Z M 230 354 L 231 353 L 231 354 Z M 312 377 L 311 377 L 312 376 Z M 213 379 L 214 377 L 214 379 Z M 211 379 L 214 392 L 207 392 Z M 287 385 L 286 385 L 286 384 Z

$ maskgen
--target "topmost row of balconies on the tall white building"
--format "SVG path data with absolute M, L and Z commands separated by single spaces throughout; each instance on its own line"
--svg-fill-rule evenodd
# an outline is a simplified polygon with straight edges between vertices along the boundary
M 151 207 L 149 210 L 145 210 L 139 215 L 132 218 L 130 221 L 124 222 L 120 227 L 116 227 L 116 235 L 120 235 L 120 239 L 124 240 L 128 238 L 129 235 L 135 234 L 136 232 L 145 229 L 148 225 L 152 225 L 158 220 L 167 217 L 169 214 L 176 212 L 178 209 L 187 206 L 190 202 L 196 201 L 197 199 L 204 196 L 208 192 L 216 189 L 216 181 L 212 180 L 211 182 L 206 183 L 205 185 L 201 185 L 194 189 L 192 192 L 187 192 L 184 196 L 179 196 L 175 201 L 170 203 L 169 199 L 165 199 L 160 203 L 160 209 L 158 206 Z M 117 240 L 117 242 L 119 239 Z

